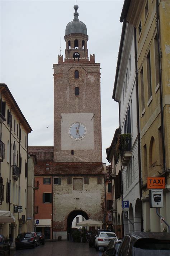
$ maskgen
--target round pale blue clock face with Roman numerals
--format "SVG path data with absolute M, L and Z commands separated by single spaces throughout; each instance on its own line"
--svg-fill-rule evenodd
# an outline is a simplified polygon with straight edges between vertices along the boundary
M 82 123 L 73 123 L 69 127 L 69 136 L 73 140 L 82 140 L 87 134 L 87 128 Z

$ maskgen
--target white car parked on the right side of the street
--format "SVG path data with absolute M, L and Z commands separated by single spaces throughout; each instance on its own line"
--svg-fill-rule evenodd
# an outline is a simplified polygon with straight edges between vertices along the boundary
M 117 238 L 114 232 L 100 232 L 99 236 L 95 239 L 95 248 L 99 250 L 100 246 L 107 247 L 113 238 Z M 118 239 L 118 238 L 117 238 Z

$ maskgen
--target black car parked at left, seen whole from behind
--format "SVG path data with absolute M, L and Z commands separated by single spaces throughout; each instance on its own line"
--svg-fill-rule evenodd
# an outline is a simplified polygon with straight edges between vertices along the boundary
M 30 233 L 21 233 L 18 234 L 17 238 L 15 238 L 15 249 L 18 250 L 20 247 L 36 247 L 36 238 L 34 235 Z

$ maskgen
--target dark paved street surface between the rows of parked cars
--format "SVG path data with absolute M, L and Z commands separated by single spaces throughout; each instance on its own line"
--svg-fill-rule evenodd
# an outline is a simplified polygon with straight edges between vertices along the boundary
M 10 256 L 95 256 L 102 255 L 102 252 L 97 252 L 94 248 L 89 248 L 88 243 L 74 243 L 71 241 L 46 242 L 45 245 L 40 245 L 36 248 L 20 249 L 11 251 Z

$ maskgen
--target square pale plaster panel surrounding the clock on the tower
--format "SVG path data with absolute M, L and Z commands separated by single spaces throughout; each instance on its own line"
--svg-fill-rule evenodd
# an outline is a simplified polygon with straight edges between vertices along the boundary
M 61 114 L 61 150 L 93 150 L 94 149 L 94 113 L 62 113 Z M 69 128 L 74 123 L 81 123 L 86 128 L 85 136 L 80 134 L 81 139 L 73 139 Z M 79 125 L 79 124 L 78 124 Z M 77 125 L 77 127 L 78 127 Z M 83 127 L 83 126 L 82 126 Z M 76 133 L 75 133 L 76 134 Z

